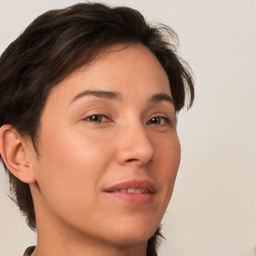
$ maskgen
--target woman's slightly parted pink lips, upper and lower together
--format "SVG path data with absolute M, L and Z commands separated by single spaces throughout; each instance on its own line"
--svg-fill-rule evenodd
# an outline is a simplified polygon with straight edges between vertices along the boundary
M 125 188 L 145 188 L 148 193 L 127 193 L 114 190 L 125 189 Z M 103 189 L 106 195 L 112 198 L 134 205 L 148 204 L 153 201 L 155 194 L 155 185 L 150 180 L 127 180 L 114 184 L 110 187 Z

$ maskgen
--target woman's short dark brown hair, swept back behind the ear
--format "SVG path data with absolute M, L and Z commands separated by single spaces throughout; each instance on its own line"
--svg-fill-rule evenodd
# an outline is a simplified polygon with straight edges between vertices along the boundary
M 175 110 L 194 98 L 193 79 L 187 63 L 176 53 L 177 35 L 162 24 L 150 25 L 143 15 L 128 7 L 101 3 L 78 3 L 49 10 L 38 16 L 0 57 L 0 126 L 11 124 L 30 137 L 36 149 L 37 131 L 46 98 L 56 84 L 91 61 L 104 47 L 141 43 L 163 66 L 170 84 Z M 13 200 L 35 229 L 35 213 L 29 186 L 9 175 Z M 157 231 L 158 232 L 158 231 Z M 156 255 L 152 236 L 148 255 Z M 149 241 L 150 241 L 149 239 Z

